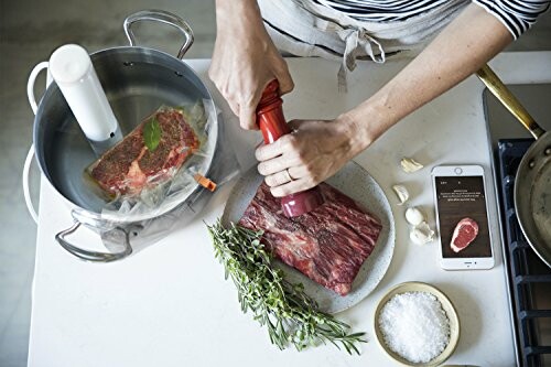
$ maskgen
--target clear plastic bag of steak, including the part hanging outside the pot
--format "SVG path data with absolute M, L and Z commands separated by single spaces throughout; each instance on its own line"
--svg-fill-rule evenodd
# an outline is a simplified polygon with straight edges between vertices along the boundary
M 105 199 L 93 229 L 109 251 L 120 251 L 126 237 L 133 253 L 162 239 L 239 174 L 224 123 L 208 106 L 161 106 L 85 169 L 89 188 Z

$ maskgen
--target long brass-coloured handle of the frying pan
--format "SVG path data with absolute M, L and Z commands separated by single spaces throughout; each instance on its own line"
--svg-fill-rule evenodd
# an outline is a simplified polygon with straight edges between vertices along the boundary
M 540 138 L 545 130 L 543 130 L 515 97 L 515 95 L 504 85 L 494 71 L 485 64 L 476 75 L 488 87 L 489 91 L 519 120 L 525 128 L 536 138 Z

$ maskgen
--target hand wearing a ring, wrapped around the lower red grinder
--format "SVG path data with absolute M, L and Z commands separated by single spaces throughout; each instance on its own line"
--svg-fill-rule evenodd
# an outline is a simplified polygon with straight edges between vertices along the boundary
M 335 120 L 293 120 L 292 133 L 256 151 L 258 172 L 276 197 L 314 187 L 359 153 L 350 123 Z

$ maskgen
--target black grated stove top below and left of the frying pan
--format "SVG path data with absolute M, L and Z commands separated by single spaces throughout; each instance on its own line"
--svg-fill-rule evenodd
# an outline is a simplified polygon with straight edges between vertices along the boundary
M 497 144 L 504 258 L 520 366 L 551 366 L 551 269 L 526 240 L 514 202 L 515 175 L 533 139 L 501 139 Z

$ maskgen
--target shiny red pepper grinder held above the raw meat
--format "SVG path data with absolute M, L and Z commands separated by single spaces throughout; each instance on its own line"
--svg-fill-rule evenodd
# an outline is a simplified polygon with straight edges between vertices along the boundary
M 270 144 L 290 133 L 291 129 L 283 116 L 283 100 L 279 95 L 279 83 L 271 80 L 262 93 L 257 107 L 257 123 L 262 131 L 264 143 Z M 296 217 L 315 209 L 323 204 L 323 196 L 317 186 L 281 198 L 281 208 L 288 217 Z

